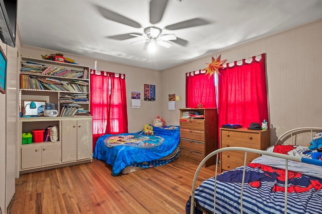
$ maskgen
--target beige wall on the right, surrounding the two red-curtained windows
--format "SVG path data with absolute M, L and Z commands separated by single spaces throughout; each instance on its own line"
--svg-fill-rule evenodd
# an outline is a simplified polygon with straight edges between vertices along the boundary
M 322 127 L 322 20 L 163 71 L 163 101 L 167 94 L 180 94 L 176 104 L 185 107 L 185 73 L 205 68 L 211 56 L 221 54 L 221 59 L 233 62 L 262 53 L 267 54 L 271 144 L 289 129 Z M 163 102 L 165 120 L 178 125 L 179 110 L 165 109 Z

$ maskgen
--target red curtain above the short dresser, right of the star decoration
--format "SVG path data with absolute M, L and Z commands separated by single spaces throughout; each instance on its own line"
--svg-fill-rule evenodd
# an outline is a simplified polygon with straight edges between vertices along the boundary
M 268 123 L 265 54 L 251 63 L 220 69 L 218 75 L 218 127 L 223 124 Z

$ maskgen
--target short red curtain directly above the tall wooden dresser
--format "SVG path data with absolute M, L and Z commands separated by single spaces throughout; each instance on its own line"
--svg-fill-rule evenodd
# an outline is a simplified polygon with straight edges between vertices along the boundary
M 216 108 L 215 83 L 213 76 L 198 72 L 186 73 L 186 108 Z

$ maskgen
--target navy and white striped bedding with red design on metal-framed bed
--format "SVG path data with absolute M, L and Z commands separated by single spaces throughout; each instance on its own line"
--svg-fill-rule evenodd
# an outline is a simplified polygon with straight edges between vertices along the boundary
M 278 165 L 276 159 L 270 161 L 270 158 L 272 157 L 265 159 L 262 156 L 258 162 L 255 160 L 246 166 L 243 213 L 284 213 L 285 170 L 275 167 Z M 274 163 L 270 166 L 272 162 Z M 281 162 L 284 162 L 285 167 L 285 160 Z M 311 164 L 306 167 L 309 175 L 303 172 L 305 167 L 301 167 L 301 172 L 289 169 L 287 213 L 321 212 L 322 179 L 320 175 L 311 176 L 314 167 L 317 172 L 321 171 L 320 166 Z M 238 167 L 217 175 L 215 213 L 240 213 L 243 169 L 244 167 Z M 195 190 L 195 200 L 204 211 L 213 213 L 214 177 L 203 181 Z M 186 207 L 186 212 L 190 213 L 190 201 Z

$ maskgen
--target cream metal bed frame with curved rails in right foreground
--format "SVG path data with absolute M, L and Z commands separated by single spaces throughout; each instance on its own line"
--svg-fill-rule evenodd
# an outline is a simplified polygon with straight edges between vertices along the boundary
M 322 131 L 322 127 L 300 127 L 300 128 L 295 128 L 291 129 L 284 134 L 282 134 L 275 142 L 275 145 L 280 144 L 281 142 L 285 142 L 287 139 L 291 140 L 291 145 L 297 145 L 296 144 L 296 136 L 301 133 L 308 133 L 310 132 L 311 138 L 314 135 L 314 132 Z M 294 157 L 290 156 L 287 154 L 279 154 L 279 153 L 273 153 L 273 152 L 268 152 L 264 150 L 258 150 L 258 149 L 251 149 L 251 148 L 244 148 L 244 147 L 226 147 L 226 148 L 221 148 L 217 149 L 210 154 L 208 154 L 198 165 L 193 182 L 192 182 L 192 191 L 191 191 L 191 205 L 190 205 L 190 214 L 194 213 L 194 207 L 197 205 L 195 203 L 195 189 L 196 189 L 196 182 L 198 178 L 198 174 L 200 169 L 203 167 L 204 163 L 211 158 L 212 156 L 216 155 L 216 170 L 215 170 L 215 185 L 214 185 L 214 197 L 216 197 L 216 181 L 217 181 L 217 169 L 218 169 L 218 156 L 217 154 L 223 152 L 223 151 L 244 151 L 245 152 L 245 158 L 244 158 L 244 170 L 243 170 L 243 178 L 242 178 L 242 183 L 241 183 L 241 189 L 244 187 L 244 179 L 245 179 L 245 168 L 246 168 L 246 162 L 247 162 L 247 153 L 252 152 L 252 153 L 257 153 L 261 155 L 268 155 L 268 156 L 273 156 L 273 157 L 279 157 L 285 159 L 285 208 L 284 208 L 284 213 L 287 213 L 287 179 L 288 179 L 288 160 L 293 160 L 293 161 L 298 161 L 298 162 L 305 162 L 305 163 L 311 163 L 315 165 L 320 165 L 322 166 L 322 161 L 316 160 L 312 161 L 311 159 L 307 158 L 301 158 L 301 157 Z M 216 207 L 216 200 L 214 198 L 214 212 L 215 212 L 215 207 Z M 240 213 L 243 214 L 243 191 L 240 192 Z

